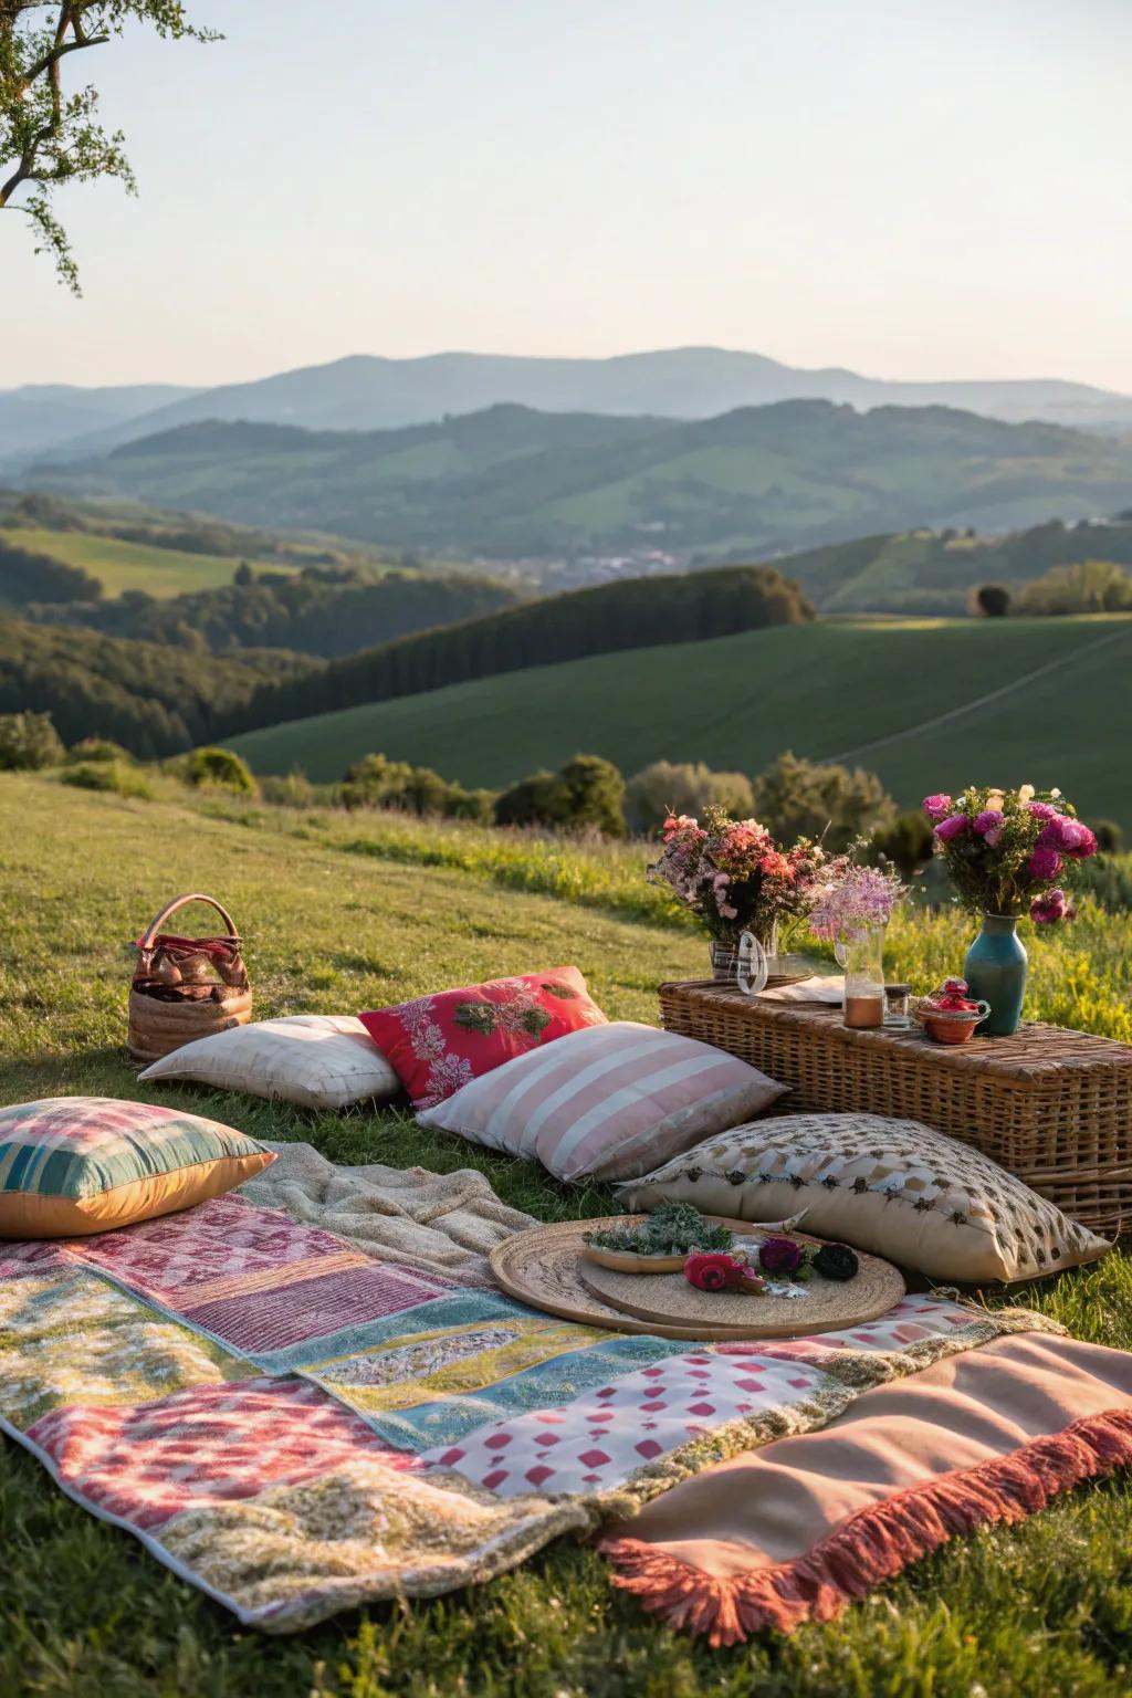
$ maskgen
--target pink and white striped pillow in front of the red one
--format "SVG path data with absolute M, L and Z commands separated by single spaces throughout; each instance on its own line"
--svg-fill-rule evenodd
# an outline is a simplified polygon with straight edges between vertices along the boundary
M 557 1178 L 635 1178 L 786 1090 L 725 1049 L 611 1020 L 506 1061 L 417 1121 L 541 1161 Z

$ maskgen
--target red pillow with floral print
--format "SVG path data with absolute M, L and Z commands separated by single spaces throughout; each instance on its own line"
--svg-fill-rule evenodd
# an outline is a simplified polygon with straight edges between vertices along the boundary
M 579 970 L 555 966 L 417 997 L 360 1019 L 414 1105 L 434 1109 L 480 1073 L 582 1026 L 602 1026 L 606 1017 Z

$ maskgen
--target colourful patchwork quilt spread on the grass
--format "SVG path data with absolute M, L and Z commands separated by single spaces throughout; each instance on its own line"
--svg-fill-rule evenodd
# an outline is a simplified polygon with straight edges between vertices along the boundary
M 913 1296 L 847 1333 L 630 1336 L 227 1195 L 0 1243 L 0 1428 L 243 1623 L 489 1579 L 860 1392 L 1015 1331 Z

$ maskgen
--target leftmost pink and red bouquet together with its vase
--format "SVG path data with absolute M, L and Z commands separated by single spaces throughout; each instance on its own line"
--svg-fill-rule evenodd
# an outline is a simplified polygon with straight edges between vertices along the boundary
M 810 975 L 784 947 L 810 912 L 827 864 L 821 846 L 808 837 L 787 849 L 759 820 L 708 808 L 703 824 L 687 813 L 667 817 L 648 878 L 667 885 L 708 932 L 715 978 L 762 990 Z

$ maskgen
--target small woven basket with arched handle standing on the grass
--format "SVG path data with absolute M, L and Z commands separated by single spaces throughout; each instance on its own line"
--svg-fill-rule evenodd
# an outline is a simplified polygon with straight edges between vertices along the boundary
M 190 902 L 207 902 L 221 915 L 222 937 L 177 937 L 165 922 Z M 210 1037 L 251 1019 L 251 990 L 243 942 L 231 914 L 195 891 L 175 897 L 137 939 L 137 966 L 129 988 L 129 1053 L 156 1061 L 195 1037 Z

